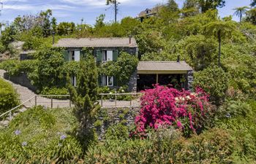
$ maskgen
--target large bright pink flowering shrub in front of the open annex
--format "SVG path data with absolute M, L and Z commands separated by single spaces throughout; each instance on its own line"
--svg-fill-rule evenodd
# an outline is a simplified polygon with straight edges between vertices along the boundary
M 140 136 L 146 135 L 147 128 L 156 130 L 168 125 L 189 135 L 203 128 L 203 122 L 210 113 L 208 95 L 200 88 L 190 93 L 156 85 L 143 93 L 140 114 L 135 118 L 135 134 Z

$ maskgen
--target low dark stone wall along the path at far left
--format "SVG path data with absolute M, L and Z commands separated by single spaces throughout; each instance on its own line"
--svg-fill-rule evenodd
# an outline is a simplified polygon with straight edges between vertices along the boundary
M 18 76 L 10 76 L 7 72 L 4 73 L 4 79 L 8 79 L 15 84 L 22 85 L 23 87 L 28 87 L 30 90 L 36 92 L 37 87 L 31 85 L 31 82 L 26 73 L 21 73 Z

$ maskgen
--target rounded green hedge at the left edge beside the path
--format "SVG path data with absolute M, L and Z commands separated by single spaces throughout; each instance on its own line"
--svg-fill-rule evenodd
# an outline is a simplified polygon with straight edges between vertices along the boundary
M 18 106 L 18 94 L 12 85 L 0 78 L 0 114 Z

